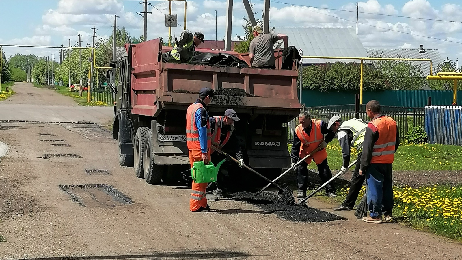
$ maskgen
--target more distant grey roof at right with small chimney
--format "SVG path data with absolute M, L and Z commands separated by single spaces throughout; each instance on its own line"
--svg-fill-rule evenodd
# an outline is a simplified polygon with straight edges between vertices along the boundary
M 367 48 L 369 57 L 384 56 L 387 58 L 414 58 L 414 59 L 431 59 L 433 62 L 433 73 L 436 73 L 438 63 L 443 62 L 443 58 L 437 49 L 426 49 L 426 53 L 420 53 L 419 49 L 379 49 Z M 414 62 L 416 65 L 421 65 L 422 72 L 425 75 L 430 75 L 430 62 Z

